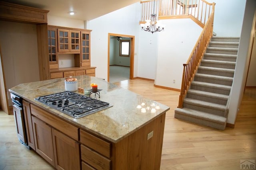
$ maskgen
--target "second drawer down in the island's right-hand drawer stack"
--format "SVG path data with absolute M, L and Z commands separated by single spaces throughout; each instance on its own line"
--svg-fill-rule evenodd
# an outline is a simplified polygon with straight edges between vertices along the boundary
M 81 145 L 81 159 L 96 169 L 110 169 L 111 160 L 101 156 L 84 145 Z

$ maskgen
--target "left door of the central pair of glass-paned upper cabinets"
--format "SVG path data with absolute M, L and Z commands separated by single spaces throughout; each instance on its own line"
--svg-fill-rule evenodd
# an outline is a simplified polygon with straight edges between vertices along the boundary
M 68 29 L 58 29 L 58 51 L 70 52 L 70 32 Z

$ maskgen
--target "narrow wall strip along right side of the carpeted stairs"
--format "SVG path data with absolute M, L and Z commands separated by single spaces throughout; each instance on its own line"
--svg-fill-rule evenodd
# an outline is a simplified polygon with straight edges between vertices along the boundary
M 236 70 L 234 74 L 233 86 L 230 94 L 230 107 L 228 113 L 228 123 L 234 124 L 238 113 L 238 108 L 243 97 L 246 75 L 250 60 L 250 49 L 252 47 L 252 39 L 254 32 L 253 20 L 256 12 L 256 1 L 247 0 L 244 12 L 244 21 L 242 24 L 242 32 L 240 36 L 240 44 L 238 48 L 238 57 L 236 60 Z M 256 17 L 256 16 L 255 16 Z

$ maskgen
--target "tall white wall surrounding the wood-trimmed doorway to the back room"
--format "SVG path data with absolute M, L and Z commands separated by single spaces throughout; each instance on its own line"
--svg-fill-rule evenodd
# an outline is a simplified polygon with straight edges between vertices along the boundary
M 91 32 L 91 65 L 96 66 L 96 76 L 108 78 L 108 33 L 135 36 L 134 77 L 138 69 L 138 37 L 140 20 L 140 3 L 135 3 L 116 10 L 94 20 L 90 20 L 88 29 Z

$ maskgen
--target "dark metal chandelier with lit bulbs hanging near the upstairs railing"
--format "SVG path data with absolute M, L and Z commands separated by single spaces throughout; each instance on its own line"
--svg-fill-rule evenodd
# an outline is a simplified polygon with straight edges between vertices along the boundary
M 151 20 L 146 20 L 146 23 L 140 24 L 142 30 L 151 32 L 152 34 L 154 32 L 159 32 L 164 30 L 164 26 L 158 25 L 156 21 L 156 14 L 155 14 L 155 0 L 154 0 L 154 8 L 153 8 L 153 14 L 151 14 Z

